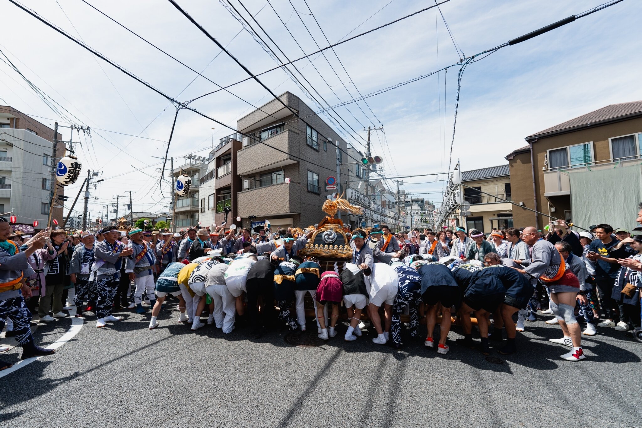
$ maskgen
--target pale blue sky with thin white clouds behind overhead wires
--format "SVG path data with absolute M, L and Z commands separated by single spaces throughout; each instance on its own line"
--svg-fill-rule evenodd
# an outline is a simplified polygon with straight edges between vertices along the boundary
M 356 98 L 359 92 L 367 95 L 458 64 L 462 58 L 582 13 L 599 2 L 451 0 L 439 9 L 349 40 L 334 47 L 334 52 L 329 49 L 325 56 L 313 55 L 295 65 L 313 89 L 300 80 L 325 108 Z M 230 13 L 227 0 L 177 3 L 252 73 L 277 65 Z M 327 40 L 336 43 L 432 4 L 402 0 L 230 3 L 249 20 L 245 6 L 282 50 L 280 58 L 287 56 L 290 60 L 316 51 L 318 46 L 328 46 Z M 169 1 L 23 0 L 22 4 L 179 101 L 217 89 L 212 81 L 225 86 L 247 77 Z M 89 4 L 189 67 L 203 70 L 211 81 Z M 76 145 L 76 155 L 83 168 L 101 171 L 98 178 L 104 180 L 92 191 L 92 218 L 101 215 L 104 205 L 114 203 L 114 196 L 130 190 L 135 191 L 135 211 L 166 210 L 171 200 L 170 185 L 159 185 L 159 158 L 167 150 L 176 113 L 171 103 L 17 6 L 4 1 L 0 13 L 0 50 L 68 112 L 60 115 L 49 108 L 19 74 L 2 62 L 0 102 L 52 127 L 58 121 L 94 128 L 91 139 L 74 136 L 74 141 L 82 142 Z M 461 78 L 454 140 L 458 66 L 365 102 L 330 110 L 342 128 L 320 116 L 359 150 L 365 144 L 364 126 L 383 124 L 384 132 L 372 136 L 372 154 L 385 159 L 382 174 L 388 177 L 445 172 L 449 164 L 452 170 L 457 162 L 463 171 L 507 164 L 505 156 L 524 146 L 527 135 L 609 104 L 642 99 L 642 58 L 638 55 L 641 15 L 642 2 L 625 0 L 467 65 Z M 272 45 L 256 22 L 250 23 Z M 320 110 L 282 69 L 259 79 L 276 94 L 289 90 L 313 110 Z M 254 110 L 252 105 L 260 107 L 271 99 L 253 80 L 229 90 L 234 95 L 217 92 L 194 101 L 191 107 L 236 129 L 236 121 Z M 169 157 L 175 158 L 175 166 L 186 154 L 207 157 L 212 144 L 234 133 L 230 128 L 180 110 Z M 69 139 L 69 130 L 63 128 L 62 134 Z M 446 175 L 438 178 L 446 179 Z M 445 182 L 435 182 L 435 176 L 403 180 L 408 193 L 440 205 Z M 65 194 L 73 199 L 79 185 L 80 180 Z M 395 187 L 392 182 L 389 185 Z M 70 204 L 65 205 L 65 214 Z M 80 212 L 82 203 L 75 210 Z M 122 207 L 119 213 L 124 213 Z

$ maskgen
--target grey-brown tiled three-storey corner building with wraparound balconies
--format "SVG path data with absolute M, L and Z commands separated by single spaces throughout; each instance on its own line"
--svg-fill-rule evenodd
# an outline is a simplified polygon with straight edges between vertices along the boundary
M 344 151 L 345 141 L 299 97 L 285 92 L 279 99 L 304 121 L 273 99 L 237 124 L 243 141 L 236 161 L 241 178 L 236 215 L 243 227 L 251 225 L 249 216 L 256 216 L 252 221 L 268 219 L 273 228 L 318 223 L 325 215 L 321 207 L 326 195 L 336 191 L 326 191 L 325 180 L 333 176 L 342 183 L 351 162 L 340 152 L 339 162 L 345 163 L 337 176 L 336 148 L 328 139 Z

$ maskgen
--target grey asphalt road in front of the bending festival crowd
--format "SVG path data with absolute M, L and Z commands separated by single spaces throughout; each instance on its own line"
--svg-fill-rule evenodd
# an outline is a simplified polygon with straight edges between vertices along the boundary
M 443 356 L 409 337 L 402 351 L 366 333 L 345 342 L 345 326 L 325 345 L 301 348 L 286 343 L 285 329 L 255 340 L 248 327 L 191 332 L 177 311 L 164 310 L 155 330 L 149 313 L 121 314 L 103 329 L 89 316 L 55 355 L 1 378 L 3 426 L 642 425 L 642 343 L 612 329 L 584 338 L 587 359 L 571 363 L 559 358 L 566 347 L 548 342 L 560 336 L 557 326 L 527 323 L 519 352 L 496 364 L 456 345 L 458 329 Z M 69 325 L 40 325 L 37 341 L 51 343 Z M 2 354 L 18 356 L 19 348 Z

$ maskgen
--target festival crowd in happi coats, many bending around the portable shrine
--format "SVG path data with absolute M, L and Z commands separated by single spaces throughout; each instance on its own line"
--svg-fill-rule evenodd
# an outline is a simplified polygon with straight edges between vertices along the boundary
M 637 220 L 642 223 L 642 204 Z M 631 235 L 606 223 L 575 232 L 565 221 L 551 221 L 546 229 L 510 227 L 486 235 L 462 227 L 396 234 L 386 225 L 345 228 L 352 259 L 331 266 L 300 254 L 313 227 L 256 233 L 190 228 L 181 234 L 109 226 L 96 234 L 56 228 L 28 236 L 13 233 L 0 218 L 0 331 L 6 323 L 6 335 L 22 345 L 22 359 L 49 355 L 54 350 L 34 343 L 32 312 L 43 323 L 72 309 L 78 318 L 91 312 L 101 328 L 122 320 L 117 312 L 147 316 L 151 310 L 153 330 L 171 296 L 178 300 L 178 322 L 191 330 L 213 324 L 229 334 L 245 324 L 259 338 L 276 323 L 306 331 L 309 294 L 311 318 L 324 340 L 338 334 L 342 305 L 349 323 L 345 341 L 358 340 L 372 326 L 374 343 L 401 348 L 403 327 L 415 338 L 425 323 L 424 345 L 439 354 L 450 350 L 454 317 L 464 330 L 456 341 L 485 355 L 489 341 L 500 343 L 504 336 L 499 352 L 516 352 L 517 332 L 538 320 L 537 311 L 553 315 L 545 322 L 559 325 L 562 337 L 550 341 L 569 348 L 561 355 L 568 361 L 586 357 L 581 338 L 597 334 L 596 327 L 638 338 L 642 232 Z M 405 313 L 408 323 L 402 322 Z M 479 343 L 473 340 L 475 321 Z M 0 370 L 10 366 L 0 361 Z

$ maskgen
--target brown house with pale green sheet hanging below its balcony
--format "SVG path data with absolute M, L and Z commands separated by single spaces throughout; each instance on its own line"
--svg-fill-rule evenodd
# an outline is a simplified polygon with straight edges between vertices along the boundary
M 526 142 L 506 157 L 516 203 L 581 227 L 635 223 L 642 200 L 642 101 L 600 108 L 529 135 Z M 549 221 L 516 206 L 513 218 L 517 227 L 539 229 Z

